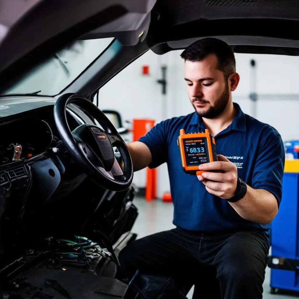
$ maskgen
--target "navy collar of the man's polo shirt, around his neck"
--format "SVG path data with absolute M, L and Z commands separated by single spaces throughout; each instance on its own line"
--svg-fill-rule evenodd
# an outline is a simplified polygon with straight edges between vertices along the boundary
M 234 104 L 234 108 L 236 109 L 236 115 L 234 117 L 233 122 L 224 131 L 228 132 L 229 130 L 236 130 L 240 132 L 245 132 L 246 131 L 245 114 L 237 103 L 233 103 L 233 104 Z M 202 117 L 199 116 L 196 112 L 193 113 L 193 116 L 190 120 L 190 125 L 198 125 L 200 128 L 205 129 L 205 124 L 202 121 Z

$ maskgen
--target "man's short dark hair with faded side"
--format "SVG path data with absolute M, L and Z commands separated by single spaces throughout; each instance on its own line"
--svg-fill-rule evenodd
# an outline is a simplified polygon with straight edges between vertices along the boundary
M 236 60 L 232 48 L 226 42 L 213 37 L 193 42 L 181 53 L 181 58 L 195 62 L 205 59 L 209 54 L 217 56 L 217 69 L 223 72 L 225 80 L 236 71 Z

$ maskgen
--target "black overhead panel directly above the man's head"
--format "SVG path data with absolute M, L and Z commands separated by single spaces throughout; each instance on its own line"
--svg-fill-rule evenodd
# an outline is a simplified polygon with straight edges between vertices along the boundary
M 295 0 L 161 0 L 154 10 L 161 15 L 150 45 L 157 54 L 212 36 L 237 53 L 299 55 Z

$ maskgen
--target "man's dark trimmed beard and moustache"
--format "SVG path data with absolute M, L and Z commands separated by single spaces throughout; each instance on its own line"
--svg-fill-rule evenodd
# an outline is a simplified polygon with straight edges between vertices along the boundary
M 208 101 L 203 100 L 203 99 L 195 99 L 195 100 L 199 100 L 202 103 L 208 103 Z M 229 89 L 228 89 L 228 84 L 226 84 L 224 91 L 222 92 L 221 96 L 219 97 L 219 99 L 215 102 L 214 106 L 210 106 L 210 108 L 206 111 L 203 112 L 198 112 L 196 110 L 195 105 L 193 104 L 193 107 L 196 111 L 196 113 L 200 116 L 200 117 L 204 117 L 204 118 L 215 118 L 218 115 L 220 115 L 226 108 L 227 103 L 229 100 Z M 194 100 L 193 100 L 194 101 Z

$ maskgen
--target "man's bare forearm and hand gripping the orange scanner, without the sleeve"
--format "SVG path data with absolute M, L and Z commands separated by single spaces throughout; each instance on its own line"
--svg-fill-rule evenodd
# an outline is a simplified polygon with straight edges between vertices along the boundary
M 218 155 L 218 161 L 202 164 L 200 170 L 207 171 L 198 176 L 199 181 L 206 186 L 206 190 L 222 199 L 230 199 L 237 188 L 237 167 L 225 156 Z M 210 172 L 221 171 L 221 172 Z M 237 202 L 229 202 L 234 210 L 244 219 L 268 224 L 278 212 L 275 196 L 267 190 L 253 189 L 247 186 L 246 195 Z

